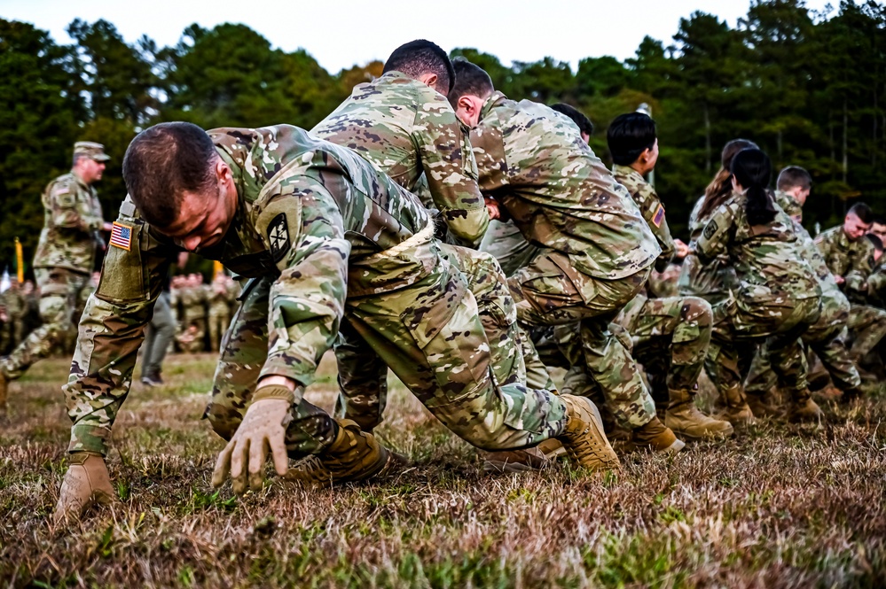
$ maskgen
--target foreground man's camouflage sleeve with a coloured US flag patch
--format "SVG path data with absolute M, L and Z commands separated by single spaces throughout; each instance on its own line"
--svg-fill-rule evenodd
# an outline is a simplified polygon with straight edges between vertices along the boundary
M 74 422 L 70 452 L 107 453 L 111 426 L 129 393 L 145 324 L 179 251 L 153 236 L 144 221 L 132 216 L 134 211 L 127 199 L 117 222 L 129 230 L 129 249 L 108 249 L 98 289 L 86 302 L 71 373 L 62 387 Z

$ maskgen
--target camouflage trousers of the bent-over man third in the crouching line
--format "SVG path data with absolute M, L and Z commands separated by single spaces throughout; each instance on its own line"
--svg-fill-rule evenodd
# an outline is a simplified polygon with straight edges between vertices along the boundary
M 568 256 L 545 249 L 508 281 L 524 329 L 578 325 L 585 366 L 616 419 L 630 429 L 652 420 L 655 404 L 609 322 L 638 294 L 649 272 L 646 268 L 620 280 L 600 280 L 578 272 Z

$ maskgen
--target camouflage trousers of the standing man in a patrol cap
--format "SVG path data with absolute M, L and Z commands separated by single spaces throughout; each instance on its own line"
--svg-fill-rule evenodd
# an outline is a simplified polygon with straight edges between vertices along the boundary
M 0 360 L 0 372 L 14 380 L 37 360 L 48 357 L 75 331 L 74 317 L 80 292 L 90 277 L 60 267 L 35 268 L 40 287 L 40 318 L 43 324 L 32 331 L 9 356 Z

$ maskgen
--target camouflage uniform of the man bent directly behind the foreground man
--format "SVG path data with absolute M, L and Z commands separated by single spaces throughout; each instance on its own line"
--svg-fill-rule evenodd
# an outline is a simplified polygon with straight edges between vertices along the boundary
M 477 244 L 486 231 L 489 213 L 477 187 L 467 133 L 445 97 L 427 84 L 399 72 L 360 84 L 311 133 L 357 151 L 406 190 L 415 190 L 419 177 L 424 178 L 427 205 L 440 211 L 460 241 Z M 494 343 L 490 356 L 496 383 L 524 383 L 514 301 L 498 263 L 489 254 L 457 246 L 444 246 L 443 254 L 474 293 L 486 336 Z M 341 390 L 337 413 L 372 430 L 384 411 L 388 366 L 347 328 L 335 353 Z

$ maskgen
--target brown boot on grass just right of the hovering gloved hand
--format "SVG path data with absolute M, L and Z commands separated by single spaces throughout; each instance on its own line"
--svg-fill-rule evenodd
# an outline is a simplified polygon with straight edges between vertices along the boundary
M 323 453 L 309 456 L 289 469 L 287 478 L 309 486 L 356 483 L 383 477 L 404 459 L 391 452 L 371 433 L 360 430 L 357 422 L 335 420 L 338 434 Z

